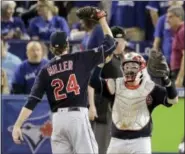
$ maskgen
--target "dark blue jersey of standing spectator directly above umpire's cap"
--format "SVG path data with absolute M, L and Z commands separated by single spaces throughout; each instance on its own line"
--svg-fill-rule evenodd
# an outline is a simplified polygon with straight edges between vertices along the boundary
M 146 2 L 113 1 L 112 3 L 112 26 L 116 25 L 124 28 L 139 27 L 145 29 Z

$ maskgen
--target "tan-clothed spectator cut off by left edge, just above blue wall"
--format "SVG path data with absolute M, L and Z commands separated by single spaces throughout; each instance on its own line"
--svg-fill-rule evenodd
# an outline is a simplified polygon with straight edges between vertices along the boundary
M 1 69 L 1 94 L 9 94 L 8 79 L 4 69 Z

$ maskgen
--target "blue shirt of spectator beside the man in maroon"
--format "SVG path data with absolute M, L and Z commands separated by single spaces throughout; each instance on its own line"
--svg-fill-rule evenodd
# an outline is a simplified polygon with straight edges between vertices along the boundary
M 161 39 L 161 49 L 169 64 L 172 51 L 173 36 L 172 31 L 170 30 L 170 26 L 166 21 L 166 15 L 163 15 L 159 18 L 155 28 L 154 37 Z

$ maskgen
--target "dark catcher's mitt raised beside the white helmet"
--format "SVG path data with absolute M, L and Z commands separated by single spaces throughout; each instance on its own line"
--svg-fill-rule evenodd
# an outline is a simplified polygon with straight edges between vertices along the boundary
M 153 77 L 165 78 L 169 76 L 170 69 L 162 52 L 154 49 L 150 51 L 147 70 Z

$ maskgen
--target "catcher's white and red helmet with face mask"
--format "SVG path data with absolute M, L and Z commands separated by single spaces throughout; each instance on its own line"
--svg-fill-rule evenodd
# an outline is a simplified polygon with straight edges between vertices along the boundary
M 142 70 L 146 67 L 144 58 L 135 52 L 126 53 L 122 60 L 122 71 L 125 82 L 134 82 L 143 77 Z

